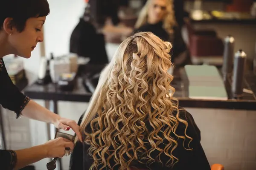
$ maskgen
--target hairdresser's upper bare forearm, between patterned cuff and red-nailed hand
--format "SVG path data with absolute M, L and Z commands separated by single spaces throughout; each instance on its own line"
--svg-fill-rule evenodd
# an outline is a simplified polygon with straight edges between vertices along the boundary
M 33 100 L 30 100 L 26 107 L 23 109 L 22 115 L 27 118 L 46 123 L 53 123 L 60 119 L 59 115 L 49 111 L 47 108 L 44 108 Z

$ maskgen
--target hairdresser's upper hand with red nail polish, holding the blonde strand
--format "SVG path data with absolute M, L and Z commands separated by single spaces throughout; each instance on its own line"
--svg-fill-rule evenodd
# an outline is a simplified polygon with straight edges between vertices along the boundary
M 82 141 L 82 135 L 79 130 L 79 125 L 74 120 L 66 119 L 66 118 L 60 118 L 57 119 L 55 122 L 53 122 L 56 128 L 63 129 L 63 130 L 70 130 L 71 129 L 76 133 L 76 136 L 80 141 Z

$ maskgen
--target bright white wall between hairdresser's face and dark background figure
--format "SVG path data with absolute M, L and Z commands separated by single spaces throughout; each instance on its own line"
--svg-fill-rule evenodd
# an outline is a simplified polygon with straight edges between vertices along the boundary
M 50 14 L 44 24 L 45 52 L 67 54 L 70 35 L 84 12 L 84 0 L 48 0 Z

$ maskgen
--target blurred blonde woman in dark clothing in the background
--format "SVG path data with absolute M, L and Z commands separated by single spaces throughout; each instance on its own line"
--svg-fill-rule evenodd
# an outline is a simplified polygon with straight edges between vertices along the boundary
M 180 27 L 175 19 L 173 0 L 148 0 L 135 24 L 134 33 L 140 31 L 152 32 L 162 40 L 172 42 L 172 59 L 186 51 Z

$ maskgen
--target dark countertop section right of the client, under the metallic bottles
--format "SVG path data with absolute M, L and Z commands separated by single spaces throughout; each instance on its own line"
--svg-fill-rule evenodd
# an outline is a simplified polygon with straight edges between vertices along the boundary
M 221 73 L 220 73 L 221 74 Z M 184 69 L 174 73 L 172 86 L 176 89 L 174 96 L 179 99 L 179 105 L 188 108 L 221 108 L 237 110 L 256 110 L 256 75 L 247 73 L 244 77 L 244 88 L 253 94 L 243 93 L 243 97 L 235 99 L 231 93 L 231 80 L 224 82 L 228 100 L 190 99 L 189 82 Z

